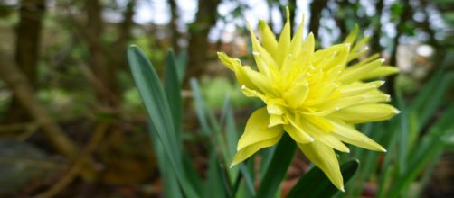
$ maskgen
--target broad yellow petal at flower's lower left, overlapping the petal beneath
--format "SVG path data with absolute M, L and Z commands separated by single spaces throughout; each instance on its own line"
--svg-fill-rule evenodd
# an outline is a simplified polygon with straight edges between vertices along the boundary
M 279 126 L 269 128 L 269 124 L 270 116 L 265 108 L 260 108 L 253 112 L 246 123 L 246 128 L 244 129 L 240 140 L 238 141 L 237 150 L 241 150 L 270 139 L 276 139 L 276 137 L 282 133 L 282 128 Z

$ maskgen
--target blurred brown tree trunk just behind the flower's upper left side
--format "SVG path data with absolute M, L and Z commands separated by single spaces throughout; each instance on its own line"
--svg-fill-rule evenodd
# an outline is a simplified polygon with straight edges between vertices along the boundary
M 198 78 L 203 75 L 209 49 L 208 33 L 216 23 L 217 6 L 220 2 L 220 0 L 199 0 L 199 10 L 195 22 L 189 25 L 191 38 L 189 39 L 189 61 L 184 80 L 185 87 L 187 87 L 190 77 Z

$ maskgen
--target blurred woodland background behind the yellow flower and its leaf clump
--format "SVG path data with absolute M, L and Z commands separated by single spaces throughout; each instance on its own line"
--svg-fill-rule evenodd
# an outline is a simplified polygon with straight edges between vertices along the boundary
M 393 196 L 454 196 L 453 0 L 0 0 L 0 196 L 163 196 L 164 173 L 127 67 L 131 43 L 165 82 L 169 49 L 187 66 L 184 147 L 207 175 L 212 145 L 200 135 L 207 129 L 189 79 L 198 79 L 213 117 L 229 98 L 241 134 L 261 104 L 241 94 L 216 51 L 254 65 L 247 22 L 255 30 L 264 19 L 279 32 L 286 5 L 294 24 L 305 14 L 317 48 L 358 24 L 371 54 L 401 70 L 384 89 L 403 113 L 361 126 L 389 152 L 339 156 L 362 162 L 339 196 L 387 197 L 394 184 L 404 190 Z M 296 156 L 284 192 L 308 169 Z

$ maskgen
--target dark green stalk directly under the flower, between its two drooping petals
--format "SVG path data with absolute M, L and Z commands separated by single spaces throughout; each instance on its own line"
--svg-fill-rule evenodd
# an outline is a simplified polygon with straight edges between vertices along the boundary
M 268 166 L 267 173 L 261 180 L 257 197 L 266 198 L 276 195 L 279 185 L 287 173 L 288 166 L 295 155 L 296 148 L 297 145 L 293 139 L 287 133 L 284 133 Z

